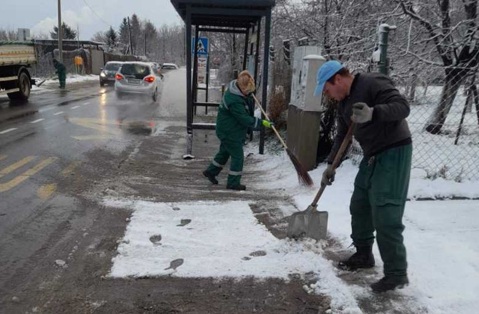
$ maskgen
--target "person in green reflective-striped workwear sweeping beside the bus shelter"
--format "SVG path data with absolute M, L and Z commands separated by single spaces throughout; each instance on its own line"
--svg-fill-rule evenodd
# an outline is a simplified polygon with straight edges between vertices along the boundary
M 220 151 L 211 161 L 203 174 L 213 184 L 218 184 L 216 176 L 231 156 L 230 171 L 226 187 L 232 190 L 245 190 L 241 184 L 243 170 L 243 141 L 248 128 L 258 129 L 260 125 L 270 128 L 273 123 L 249 115 L 254 108 L 254 79 L 248 71 L 242 71 L 238 79 L 233 80 L 223 95 L 216 119 L 216 135 L 220 139 Z

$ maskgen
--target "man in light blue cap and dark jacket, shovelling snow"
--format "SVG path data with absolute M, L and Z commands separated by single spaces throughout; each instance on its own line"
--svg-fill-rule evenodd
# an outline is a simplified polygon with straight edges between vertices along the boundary
M 338 101 L 338 132 L 321 184 L 334 181 L 331 163 L 351 122 L 357 124 L 354 137 L 364 154 L 350 202 L 351 238 L 356 253 L 338 267 L 350 271 L 374 267 L 372 246 L 376 231 L 384 277 L 371 288 L 374 292 L 402 288 L 409 283 L 402 236 L 412 156 L 411 132 L 405 120 L 409 103 L 387 76 L 353 75 L 334 60 L 318 70 L 314 95 L 322 93 Z

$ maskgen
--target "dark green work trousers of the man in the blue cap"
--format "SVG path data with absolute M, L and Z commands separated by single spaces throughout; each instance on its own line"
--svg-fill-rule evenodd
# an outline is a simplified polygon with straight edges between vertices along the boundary
M 373 232 L 384 262 L 384 274 L 406 275 L 402 223 L 411 172 L 412 145 L 363 158 L 351 197 L 351 238 L 354 246 L 372 246 Z

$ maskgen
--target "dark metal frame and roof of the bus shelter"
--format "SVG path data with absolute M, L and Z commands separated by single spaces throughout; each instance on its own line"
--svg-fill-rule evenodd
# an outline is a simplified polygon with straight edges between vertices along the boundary
M 193 130 L 215 130 L 215 124 L 194 123 L 193 113 L 196 107 L 218 107 L 219 103 L 198 102 L 198 51 L 195 47 L 192 58 L 192 26 L 195 26 L 195 43 L 200 32 L 223 32 L 245 35 L 243 70 L 246 69 L 247 56 L 254 53 L 254 81 L 258 78 L 258 60 L 261 32 L 261 18 L 264 17 L 263 69 L 259 76 L 262 79 L 262 107 L 266 110 L 266 95 L 268 85 L 268 58 L 271 26 L 271 9 L 275 0 L 171 0 L 171 3 L 186 24 L 186 69 L 187 69 L 187 148 L 185 159 L 192 156 Z M 251 30 L 256 29 L 256 49 L 248 47 Z M 248 53 L 249 50 L 249 53 Z M 193 61 L 192 61 L 193 59 Z M 193 62 L 193 67 L 192 67 Z M 193 73 L 192 73 L 193 68 Z M 264 128 L 260 130 L 259 154 L 264 152 Z

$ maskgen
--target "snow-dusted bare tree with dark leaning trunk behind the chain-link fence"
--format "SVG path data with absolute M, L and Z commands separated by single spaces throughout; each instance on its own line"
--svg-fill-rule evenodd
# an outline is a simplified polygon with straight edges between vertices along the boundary
M 476 71 L 478 65 L 477 0 L 395 1 L 400 4 L 404 14 L 425 30 L 423 45 L 432 43 L 436 50 L 434 54 L 431 51 L 408 53 L 424 63 L 444 68 L 441 100 L 426 125 L 428 132 L 438 134 L 461 83 L 472 71 Z

